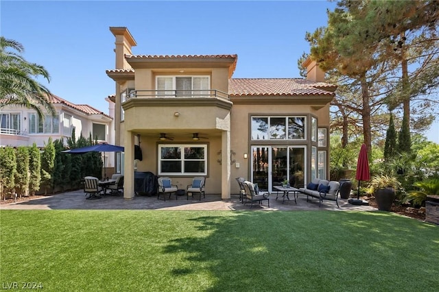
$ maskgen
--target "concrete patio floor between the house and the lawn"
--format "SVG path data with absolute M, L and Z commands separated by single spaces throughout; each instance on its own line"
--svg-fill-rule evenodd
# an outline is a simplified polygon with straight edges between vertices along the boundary
M 166 201 L 157 199 L 156 196 L 148 197 L 145 195 L 135 196 L 133 199 L 123 199 L 122 195 L 104 195 L 101 199 L 86 199 L 84 191 L 71 191 L 44 197 L 29 197 L 29 199 L 9 204 L 1 204 L 0 210 L 377 210 L 371 206 L 356 206 L 348 203 L 348 199 L 339 199 L 340 208 L 333 201 L 324 201 L 319 207 L 318 199 L 309 199 L 306 195 L 298 195 L 297 204 L 294 197 L 290 195 L 290 200 L 282 202 L 282 198 L 276 200 L 276 193 L 270 195 L 270 208 L 267 201 L 262 205 L 241 204 L 239 195 L 231 195 L 230 199 L 221 199 L 220 195 L 208 195 L 202 198 L 201 202 L 197 198 L 186 195 L 166 197 Z

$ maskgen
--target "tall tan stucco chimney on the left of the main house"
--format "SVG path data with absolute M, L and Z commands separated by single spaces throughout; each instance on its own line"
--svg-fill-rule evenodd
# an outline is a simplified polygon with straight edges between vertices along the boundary
M 116 67 L 115 69 L 130 69 L 131 66 L 126 62 L 125 55 L 132 55 L 131 47 L 136 46 L 130 31 L 126 27 L 110 27 L 110 32 L 116 37 Z

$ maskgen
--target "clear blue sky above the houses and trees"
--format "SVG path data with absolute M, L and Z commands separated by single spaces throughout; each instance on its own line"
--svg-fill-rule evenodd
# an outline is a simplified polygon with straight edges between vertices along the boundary
M 108 112 L 115 68 L 110 26 L 130 29 L 134 54 L 237 54 L 233 77 L 300 77 L 305 33 L 327 25 L 329 1 L 0 1 L 0 32 L 21 42 L 46 84 L 74 104 Z M 439 143 L 439 124 L 428 138 Z M 434 134 L 436 132 L 436 134 Z

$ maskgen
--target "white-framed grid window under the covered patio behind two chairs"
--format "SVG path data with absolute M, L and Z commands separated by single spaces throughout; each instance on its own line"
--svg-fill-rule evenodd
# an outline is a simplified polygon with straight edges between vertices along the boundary
M 207 175 L 207 145 L 159 145 L 159 175 Z

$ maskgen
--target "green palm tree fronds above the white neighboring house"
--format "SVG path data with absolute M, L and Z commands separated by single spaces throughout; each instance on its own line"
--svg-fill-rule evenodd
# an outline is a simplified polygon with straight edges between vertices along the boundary
M 42 76 L 49 82 L 49 73 L 43 66 L 27 62 L 21 56 L 23 51 L 20 42 L 0 36 L 0 108 L 24 106 L 36 110 L 40 118 L 54 115 L 49 89 L 36 81 Z

